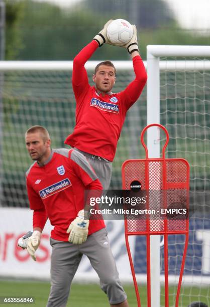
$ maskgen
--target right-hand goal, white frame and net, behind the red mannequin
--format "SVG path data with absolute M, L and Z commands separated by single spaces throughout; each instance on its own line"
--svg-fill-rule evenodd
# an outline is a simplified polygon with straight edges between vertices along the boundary
M 192 301 L 202 301 L 209 305 L 210 47 L 148 46 L 147 48 L 147 123 L 157 122 L 167 128 L 169 144 L 166 158 L 184 158 L 190 165 L 189 244 L 179 305 L 187 306 Z M 159 155 L 165 141 L 164 137 L 156 130 L 148 134 L 148 146 L 152 157 Z M 152 292 L 156 293 L 153 295 L 152 306 L 157 306 L 159 300 L 157 297 L 160 290 L 157 280 L 163 281 L 158 275 L 162 277 L 164 274 L 164 242 L 160 243 L 160 240 L 161 238 L 154 238 L 154 244 L 151 246 L 151 254 L 154 256 L 151 268 Z M 175 305 L 184 242 L 182 235 L 169 236 L 170 306 Z M 142 250 L 141 242 L 136 246 Z M 143 258 L 138 257 L 137 261 L 141 262 L 141 259 Z M 138 267 L 146 265 L 140 262 Z M 164 305 L 163 293 L 160 295 L 161 305 Z

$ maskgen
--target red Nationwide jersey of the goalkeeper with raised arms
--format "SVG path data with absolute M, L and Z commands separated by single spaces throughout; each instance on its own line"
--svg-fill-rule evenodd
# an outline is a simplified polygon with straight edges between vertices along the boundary
M 65 144 L 113 161 L 126 112 L 139 98 L 147 80 L 140 56 L 133 58 L 136 78 L 125 90 L 102 96 L 88 83 L 85 62 L 97 49 L 92 41 L 73 61 L 72 85 L 76 99 L 76 125 Z

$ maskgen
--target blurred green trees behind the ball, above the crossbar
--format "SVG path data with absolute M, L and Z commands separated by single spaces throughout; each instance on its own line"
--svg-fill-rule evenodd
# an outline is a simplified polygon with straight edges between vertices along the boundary
M 147 45 L 210 44 L 210 35 L 181 29 L 162 0 L 84 0 L 65 10 L 32 0 L 6 0 L 5 59 L 72 60 L 111 18 L 124 18 L 137 25 L 143 59 Z M 128 58 L 119 47 L 106 45 L 91 59 Z

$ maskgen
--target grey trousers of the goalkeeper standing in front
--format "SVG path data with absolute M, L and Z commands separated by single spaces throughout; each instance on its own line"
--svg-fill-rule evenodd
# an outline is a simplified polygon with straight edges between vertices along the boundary
M 79 245 L 52 238 L 50 244 L 52 246 L 51 290 L 48 307 L 66 306 L 70 285 L 82 255 L 89 258 L 100 279 L 100 287 L 107 294 L 109 302 L 118 304 L 126 300 L 127 295 L 119 280 L 106 228 L 89 235 L 87 241 Z

